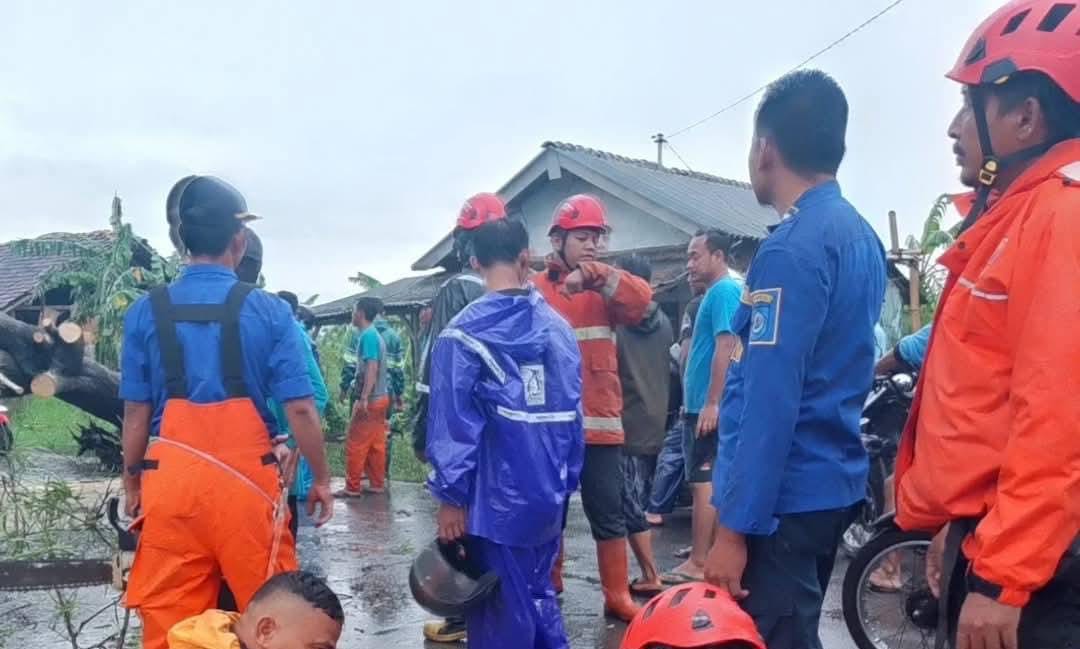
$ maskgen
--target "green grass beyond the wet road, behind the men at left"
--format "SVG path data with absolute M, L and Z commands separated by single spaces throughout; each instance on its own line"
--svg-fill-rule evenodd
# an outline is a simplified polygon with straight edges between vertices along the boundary
M 80 424 L 92 420 L 82 410 L 56 398 L 24 397 L 6 405 L 11 408 L 16 448 L 39 448 L 73 456 L 79 445 L 72 433 Z M 330 473 L 343 477 L 345 445 L 340 442 L 327 443 L 326 455 Z M 411 483 L 423 482 L 428 477 L 428 469 L 413 455 L 413 445 L 407 436 L 395 435 L 390 445 L 390 475 L 393 479 Z

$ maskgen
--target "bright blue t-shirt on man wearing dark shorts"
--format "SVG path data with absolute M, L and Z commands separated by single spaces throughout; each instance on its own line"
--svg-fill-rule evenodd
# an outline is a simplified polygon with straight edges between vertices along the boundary
M 713 374 L 716 337 L 732 333 L 731 319 L 739 309 L 742 286 L 739 280 L 725 275 L 708 287 L 701 300 L 698 320 L 693 323 L 693 338 L 690 342 L 690 356 L 687 359 L 684 381 L 684 403 L 686 411 L 690 415 L 698 415 L 705 407 L 708 380 Z

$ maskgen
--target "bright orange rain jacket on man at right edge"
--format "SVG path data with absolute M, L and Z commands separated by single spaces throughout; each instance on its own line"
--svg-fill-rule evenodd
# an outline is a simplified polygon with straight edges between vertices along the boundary
M 940 262 L 896 520 L 980 519 L 972 571 L 1022 607 L 1080 532 L 1080 139 L 1036 161 Z

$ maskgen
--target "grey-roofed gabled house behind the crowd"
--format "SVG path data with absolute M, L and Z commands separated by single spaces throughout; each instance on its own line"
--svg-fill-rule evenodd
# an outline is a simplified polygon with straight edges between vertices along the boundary
M 690 297 L 685 282 L 686 246 L 696 232 L 718 229 L 734 238 L 739 245 L 731 266 L 744 272 L 769 226 L 780 220 L 775 211 L 757 202 L 747 182 L 559 141 L 541 145 L 540 152 L 497 193 L 507 203 L 509 218 L 525 224 L 538 266 L 549 249 L 548 229 L 555 207 L 577 193 L 598 197 L 612 226 L 606 241 L 608 258 L 630 252 L 648 257 L 658 300 L 673 317 Z M 407 278 L 368 295 L 382 297 L 391 309 L 427 303 L 442 283 L 438 278 L 456 272 L 457 266 L 447 231 L 413 265 L 415 271 L 438 270 L 438 275 L 421 282 Z M 890 269 L 890 275 L 894 282 L 886 310 L 899 314 L 907 295 L 906 280 L 895 269 Z M 356 297 L 314 311 L 324 322 L 347 322 Z

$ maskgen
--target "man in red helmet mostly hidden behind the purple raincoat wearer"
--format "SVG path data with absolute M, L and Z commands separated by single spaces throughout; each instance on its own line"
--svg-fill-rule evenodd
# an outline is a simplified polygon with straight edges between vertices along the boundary
M 478 193 L 461 207 L 457 226 L 454 228 L 454 254 L 461 272 L 443 283 L 431 302 L 431 321 L 428 336 L 420 350 L 420 380 L 416 386 L 416 419 L 413 422 L 413 449 L 417 457 L 426 460 L 428 444 L 428 386 L 431 380 L 431 348 L 438 335 L 470 302 L 484 295 L 484 280 L 473 272 L 469 265 L 472 257 L 473 233 L 484 224 L 507 218 L 507 207 L 502 199 L 494 193 Z M 429 622 L 423 635 L 433 643 L 458 643 L 465 638 L 465 621 L 461 619 Z

